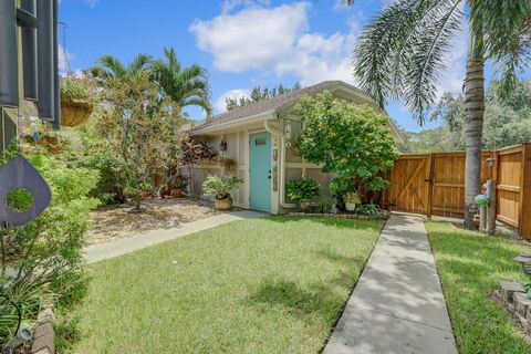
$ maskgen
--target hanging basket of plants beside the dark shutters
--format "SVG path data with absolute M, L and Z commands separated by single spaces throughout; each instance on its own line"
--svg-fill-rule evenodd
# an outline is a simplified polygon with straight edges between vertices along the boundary
M 61 125 L 77 126 L 94 110 L 95 87 L 86 77 L 69 75 L 61 81 Z

